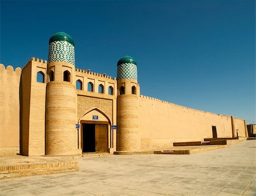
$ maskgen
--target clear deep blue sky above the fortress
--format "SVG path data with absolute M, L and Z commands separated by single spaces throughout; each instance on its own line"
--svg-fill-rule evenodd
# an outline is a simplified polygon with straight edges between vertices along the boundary
M 129 55 L 142 95 L 256 123 L 254 0 L 1 0 L 0 62 L 48 59 L 60 31 L 75 41 L 77 68 L 114 77 Z

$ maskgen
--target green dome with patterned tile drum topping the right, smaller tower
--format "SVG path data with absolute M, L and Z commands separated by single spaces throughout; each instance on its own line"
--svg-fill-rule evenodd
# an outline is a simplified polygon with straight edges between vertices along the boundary
M 137 62 L 133 57 L 124 56 L 117 62 L 117 79 L 138 79 Z

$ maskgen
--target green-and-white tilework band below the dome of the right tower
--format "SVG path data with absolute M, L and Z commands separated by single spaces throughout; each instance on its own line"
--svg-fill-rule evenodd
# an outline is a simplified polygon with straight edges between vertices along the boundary
M 137 65 L 134 63 L 122 63 L 117 66 L 117 79 L 137 80 Z

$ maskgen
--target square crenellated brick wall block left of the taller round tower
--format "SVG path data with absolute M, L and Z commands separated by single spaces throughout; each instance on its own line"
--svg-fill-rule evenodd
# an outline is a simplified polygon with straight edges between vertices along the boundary
M 44 155 L 46 69 L 47 62 L 35 57 L 31 58 L 22 69 L 20 82 L 22 155 Z M 44 83 L 37 82 L 39 71 L 44 73 Z

